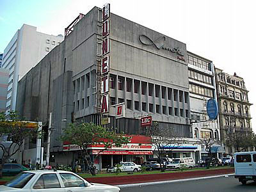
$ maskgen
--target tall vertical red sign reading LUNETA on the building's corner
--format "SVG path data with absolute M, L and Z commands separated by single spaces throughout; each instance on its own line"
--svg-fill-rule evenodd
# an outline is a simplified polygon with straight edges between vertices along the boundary
M 108 3 L 102 8 L 101 113 L 109 112 L 109 16 Z

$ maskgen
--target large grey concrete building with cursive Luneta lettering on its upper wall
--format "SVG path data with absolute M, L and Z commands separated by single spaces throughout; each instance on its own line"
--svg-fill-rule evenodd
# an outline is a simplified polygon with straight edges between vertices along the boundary
M 103 97 L 100 68 L 104 58 L 102 47 L 106 43 L 102 38 L 101 15 L 102 9 L 94 7 L 80 17 L 65 40 L 19 81 L 17 111 L 20 115 L 27 120 L 42 121 L 43 129 L 47 129 L 52 112 L 54 159 L 51 163 L 70 164 L 79 157 L 76 146 L 68 142 L 63 145 L 58 140 L 72 120 L 100 124 L 102 117 L 109 117 L 109 124 L 104 125 L 109 129 L 143 136 L 145 127 L 141 127 L 140 118 L 152 116 L 154 122 L 175 129 L 180 137 L 193 137 L 189 124 L 186 44 L 113 13 L 109 17 L 106 52 L 109 109 L 108 113 L 100 113 Z M 116 118 L 115 106 L 120 103 L 125 103 L 125 117 Z M 61 121 L 63 119 L 67 121 Z M 133 146 L 141 146 L 138 141 L 134 142 Z M 104 154 L 97 163 L 104 168 L 120 161 L 134 161 L 140 156 L 147 158 L 148 154 L 152 155 L 148 150 L 151 151 L 151 147 L 143 152 L 132 150 L 132 155 L 118 154 L 116 150 L 116 155 Z M 195 150 L 196 147 L 173 150 L 173 156 L 193 156 Z

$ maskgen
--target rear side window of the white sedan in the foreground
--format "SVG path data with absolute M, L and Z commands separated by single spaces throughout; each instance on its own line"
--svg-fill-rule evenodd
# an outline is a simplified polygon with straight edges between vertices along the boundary
M 55 173 L 42 175 L 33 186 L 34 189 L 61 188 Z

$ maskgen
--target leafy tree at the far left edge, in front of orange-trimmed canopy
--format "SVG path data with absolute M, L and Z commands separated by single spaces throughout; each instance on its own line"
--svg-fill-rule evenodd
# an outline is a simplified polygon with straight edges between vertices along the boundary
M 31 128 L 28 125 L 28 122 L 19 119 L 15 111 L 10 111 L 8 116 L 0 113 L 0 150 L 3 152 L 0 162 L 0 177 L 2 177 L 3 164 L 20 150 L 24 139 L 33 139 L 38 136 L 38 127 Z M 6 141 L 11 142 L 8 145 Z

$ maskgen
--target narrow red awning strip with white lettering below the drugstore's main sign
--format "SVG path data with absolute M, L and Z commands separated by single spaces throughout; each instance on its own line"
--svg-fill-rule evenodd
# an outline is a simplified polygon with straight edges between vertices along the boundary
M 151 150 L 92 150 L 93 155 L 152 155 Z

